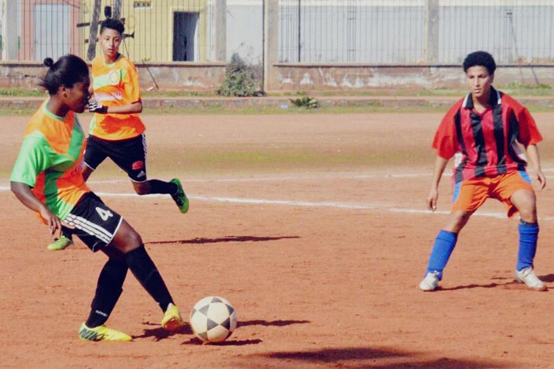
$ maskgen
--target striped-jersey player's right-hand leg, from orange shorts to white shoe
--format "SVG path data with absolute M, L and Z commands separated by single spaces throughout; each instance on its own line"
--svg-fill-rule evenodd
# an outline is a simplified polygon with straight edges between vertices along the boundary
M 537 222 L 537 199 L 527 174 L 515 172 L 503 176 L 497 189 L 497 198 L 508 207 L 508 216 L 511 217 L 519 212 L 516 280 L 525 283 L 530 289 L 546 291 L 546 286 L 533 270 L 539 238 L 539 224 Z

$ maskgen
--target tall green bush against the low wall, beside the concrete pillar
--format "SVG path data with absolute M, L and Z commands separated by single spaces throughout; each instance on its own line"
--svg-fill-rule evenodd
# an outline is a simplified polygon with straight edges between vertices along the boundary
M 233 53 L 231 62 L 227 64 L 225 79 L 217 94 L 221 96 L 259 96 L 258 84 L 251 66 Z

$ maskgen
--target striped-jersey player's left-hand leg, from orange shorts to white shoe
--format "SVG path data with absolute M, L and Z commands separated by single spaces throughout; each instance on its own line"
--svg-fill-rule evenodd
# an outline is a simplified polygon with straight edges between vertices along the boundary
M 452 212 L 435 238 L 425 277 L 420 283 L 422 291 L 434 291 L 438 287 L 438 282 L 443 279 L 443 271 L 458 242 L 458 233 L 487 197 L 486 183 L 481 181 L 462 181 L 454 186 Z

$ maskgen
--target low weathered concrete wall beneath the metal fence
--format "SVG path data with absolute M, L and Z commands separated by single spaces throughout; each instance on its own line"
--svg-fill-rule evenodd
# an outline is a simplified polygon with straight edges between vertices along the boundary
M 225 64 L 180 62 L 138 64 L 143 91 L 215 91 L 225 77 Z M 37 87 L 46 67 L 35 62 L 0 62 L 0 88 Z M 152 75 L 150 75 L 152 73 Z M 499 66 L 494 84 L 549 84 L 554 66 Z M 535 80 L 536 77 L 536 80 Z M 459 89 L 464 86 L 461 66 L 367 66 L 335 64 L 274 64 L 266 91 L 391 91 L 400 89 Z

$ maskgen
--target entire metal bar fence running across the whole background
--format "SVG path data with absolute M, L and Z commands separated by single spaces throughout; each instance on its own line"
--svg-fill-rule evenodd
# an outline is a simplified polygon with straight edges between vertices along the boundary
M 278 1 L 278 61 L 459 64 L 477 49 L 499 64 L 554 63 L 554 0 Z M 223 10 L 224 19 L 217 17 Z M 100 53 L 98 24 L 125 21 L 134 62 L 263 60 L 263 0 L 0 0 L 2 60 Z M 219 11 L 220 13 L 217 13 Z M 217 53 L 217 27 L 226 48 Z M 265 35 L 267 39 L 269 35 Z

